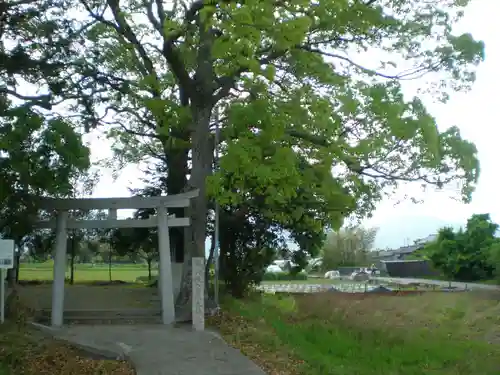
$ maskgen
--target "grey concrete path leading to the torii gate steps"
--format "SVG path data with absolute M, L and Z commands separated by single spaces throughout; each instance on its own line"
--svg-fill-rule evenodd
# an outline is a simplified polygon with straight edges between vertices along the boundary
M 265 375 L 255 363 L 210 331 L 161 325 L 44 330 L 94 354 L 128 359 L 137 375 Z

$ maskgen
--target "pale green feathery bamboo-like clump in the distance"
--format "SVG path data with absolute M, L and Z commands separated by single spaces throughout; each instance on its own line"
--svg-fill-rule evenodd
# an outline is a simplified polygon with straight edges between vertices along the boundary
M 321 250 L 323 270 L 370 266 L 370 251 L 373 249 L 377 231 L 378 228 L 353 226 L 328 233 Z

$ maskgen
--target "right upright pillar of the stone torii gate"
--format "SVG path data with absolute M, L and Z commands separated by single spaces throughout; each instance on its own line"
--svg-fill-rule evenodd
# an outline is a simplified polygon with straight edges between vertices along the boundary
M 158 287 L 161 296 L 161 317 L 163 324 L 172 324 L 175 322 L 175 301 L 166 207 L 158 207 L 158 252 L 160 253 Z

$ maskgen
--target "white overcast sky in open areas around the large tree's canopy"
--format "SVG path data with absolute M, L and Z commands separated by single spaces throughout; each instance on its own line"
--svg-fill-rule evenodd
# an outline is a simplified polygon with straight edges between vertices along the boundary
M 437 118 L 440 129 L 456 125 L 462 136 L 472 140 L 481 160 L 481 177 L 473 201 L 464 205 L 450 199 L 450 192 L 420 194 L 425 202 L 395 203 L 405 194 L 418 195 L 418 186 L 402 186 L 397 196 L 382 202 L 369 226 L 380 228 L 377 247 L 397 247 L 420 237 L 426 237 L 446 224 L 462 225 L 472 213 L 491 213 L 500 222 L 500 200 L 497 173 L 500 171 L 500 130 L 497 125 L 500 87 L 500 14 L 499 0 L 474 0 L 466 11 L 457 31 L 471 32 L 476 39 L 486 43 L 486 61 L 479 67 L 477 81 L 472 91 L 452 94 L 447 104 L 435 104 L 429 98 L 427 105 Z M 418 83 L 411 83 L 413 91 Z M 95 158 L 111 156 L 109 144 L 95 135 L 91 141 Z M 137 186 L 140 173 L 134 166 L 124 169 L 118 180 L 113 181 L 110 171 L 104 171 L 95 197 L 128 196 L 128 186 Z

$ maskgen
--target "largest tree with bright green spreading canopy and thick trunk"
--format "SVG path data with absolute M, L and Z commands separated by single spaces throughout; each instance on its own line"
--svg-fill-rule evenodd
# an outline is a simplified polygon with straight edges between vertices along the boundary
M 204 255 L 208 192 L 239 204 L 258 186 L 266 204 L 286 207 L 307 187 L 335 226 L 368 214 L 399 181 L 458 180 L 470 199 L 475 147 L 457 128 L 439 132 L 400 83 L 431 73 L 422 87 L 437 98 L 470 87 L 483 44 L 452 30 L 467 3 L 74 0 L 71 14 L 92 26 L 65 90 L 82 97 L 85 120 L 109 125 L 127 161 L 164 159 L 169 193 L 200 189 L 180 304 L 190 258 Z M 370 49 L 383 53 L 364 65 L 355 56 Z M 213 174 L 215 120 L 223 156 Z

